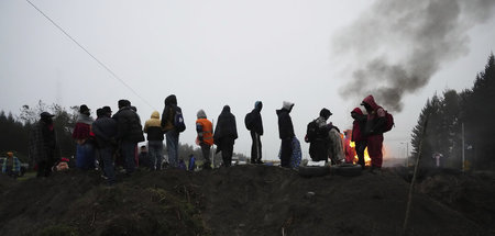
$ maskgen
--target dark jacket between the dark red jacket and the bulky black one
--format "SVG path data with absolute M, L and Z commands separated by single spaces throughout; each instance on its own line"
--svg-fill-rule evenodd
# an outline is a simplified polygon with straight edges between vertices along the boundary
M 92 123 L 91 131 L 95 134 L 95 138 L 99 148 L 109 147 L 116 144 L 116 120 L 108 116 L 101 116 Z

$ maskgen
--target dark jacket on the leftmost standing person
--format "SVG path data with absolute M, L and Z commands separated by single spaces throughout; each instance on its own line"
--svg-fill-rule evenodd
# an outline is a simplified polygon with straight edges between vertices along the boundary
M 30 133 L 29 147 L 30 158 L 35 162 L 46 161 L 59 155 L 59 151 L 56 151 L 58 146 L 53 123 L 48 124 L 43 120 L 35 123 Z

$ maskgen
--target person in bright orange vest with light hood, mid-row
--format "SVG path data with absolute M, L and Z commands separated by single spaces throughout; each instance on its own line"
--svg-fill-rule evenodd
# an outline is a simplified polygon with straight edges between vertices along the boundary
M 202 157 L 205 158 L 204 169 L 211 169 L 210 148 L 213 145 L 213 125 L 208 121 L 204 110 L 199 110 L 196 120 L 196 131 L 198 137 L 197 144 L 201 147 Z

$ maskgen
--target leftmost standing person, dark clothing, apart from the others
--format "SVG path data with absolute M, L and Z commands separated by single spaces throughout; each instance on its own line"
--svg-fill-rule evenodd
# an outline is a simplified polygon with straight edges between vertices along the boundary
M 40 116 L 30 133 L 29 156 L 37 166 L 36 177 L 48 177 L 53 165 L 59 158 L 59 150 L 53 126 L 54 115 L 42 112 Z

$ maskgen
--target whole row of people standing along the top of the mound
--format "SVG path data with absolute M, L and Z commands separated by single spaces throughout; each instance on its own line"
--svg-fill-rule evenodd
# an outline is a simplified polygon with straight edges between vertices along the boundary
M 114 182 L 116 165 L 122 165 L 125 173 L 132 175 L 136 165 L 139 165 L 138 143 L 144 141 L 143 133 L 146 133 L 148 167 L 153 170 L 162 169 L 163 141 L 166 139 L 168 165 L 178 168 L 178 141 L 186 126 L 182 109 L 177 105 L 177 98 L 174 94 L 168 95 L 165 99 L 162 117 L 158 111 L 154 111 L 150 120 L 144 123 L 144 127 L 141 125 L 136 108 L 132 106 L 129 100 L 122 99 L 118 102 L 118 105 L 119 111 L 113 115 L 110 106 L 97 109 L 96 120 L 90 116 L 90 110 L 87 105 L 79 106 L 79 115 L 73 132 L 77 146 L 76 167 L 82 170 L 94 169 L 96 167 L 95 159 L 98 158 L 109 183 Z M 366 97 L 362 105 L 366 109 L 367 115 L 364 115 L 359 108 L 351 112 L 354 119 L 352 141 L 356 144 L 359 164 L 364 167 L 363 153 L 367 146 L 372 158 L 372 168 L 381 168 L 383 132 L 381 133 L 380 127 L 383 125 L 385 113 L 374 102 L 372 95 Z M 280 138 L 280 166 L 287 168 L 294 166 L 294 161 L 292 161 L 295 153 L 294 144 L 298 144 L 290 117 L 293 108 L 294 103 L 284 101 L 282 109 L 276 110 Z M 263 164 L 262 109 L 263 103 L 256 101 L 254 109 L 244 119 L 252 138 L 251 164 Z M 331 134 L 332 131 L 340 132 L 332 123 L 327 124 L 330 115 L 332 113 L 328 109 L 321 110 L 319 117 L 314 121 L 316 127 L 319 128 L 315 134 L 309 133 L 308 125 L 308 134 L 305 141 L 310 143 L 309 154 L 314 160 L 328 160 L 330 143 L 327 139 L 327 134 Z M 52 167 L 59 159 L 59 153 L 56 151 L 57 143 L 53 128 L 53 116 L 47 112 L 41 113 L 41 119 L 34 125 L 30 137 L 30 157 L 37 164 L 38 177 L 50 176 Z M 232 161 L 233 145 L 238 138 L 238 131 L 235 116 L 231 113 L 229 105 L 223 106 L 217 121 L 213 132 L 212 123 L 208 120 L 206 112 L 204 110 L 197 112 L 196 131 L 198 135 L 196 144 L 201 147 L 205 159 L 204 169 L 211 168 L 210 151 L 213 144 L 217 145 L 217 153 L 222 153 L 222 165 L 224 167 L 229 167 Z M 119 158 L 114 160 L 116 154 Z

